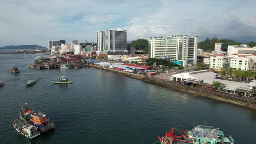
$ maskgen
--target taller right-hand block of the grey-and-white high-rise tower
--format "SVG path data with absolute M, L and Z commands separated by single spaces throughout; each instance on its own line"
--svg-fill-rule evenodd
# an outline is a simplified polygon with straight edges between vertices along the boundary
M 105 52 L 128 52 L 127 33 L 123 29 L 105 30 Z

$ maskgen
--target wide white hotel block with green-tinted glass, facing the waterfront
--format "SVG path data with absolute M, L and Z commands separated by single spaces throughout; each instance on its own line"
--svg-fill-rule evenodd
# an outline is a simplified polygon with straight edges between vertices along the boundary
M 150 58 L 180 62 L 183 66 L 197 63 L 197 36 L 150 37 L 148 52 Z

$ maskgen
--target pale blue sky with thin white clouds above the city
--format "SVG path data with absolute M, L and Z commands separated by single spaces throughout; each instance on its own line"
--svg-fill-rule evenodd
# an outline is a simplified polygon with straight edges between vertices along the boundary
M 0 46 L 64 39 L 96 42 L 96 32 L 127 30 L 127 40 L 198 36 L 256 41 L 255 0 L 0 0 Z

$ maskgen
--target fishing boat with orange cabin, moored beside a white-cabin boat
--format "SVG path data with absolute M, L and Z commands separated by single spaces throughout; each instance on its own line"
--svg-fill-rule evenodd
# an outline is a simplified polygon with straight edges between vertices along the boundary
M 30 113 L 30 122 L 38 128 L 38 130 L 43 133 L 54 128 L 53 122 L 47 118 L 46 114 L 40 111 Z

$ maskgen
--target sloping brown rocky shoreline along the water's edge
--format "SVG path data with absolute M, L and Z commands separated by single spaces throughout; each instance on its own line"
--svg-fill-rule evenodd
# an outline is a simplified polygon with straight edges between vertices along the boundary
M 163 87 L 166 87 L 166 88 L 170 88 L 171 90 L 181 92 L 181 93 L 186 93 L 186 94 L 191 95 L 191 96 L 210 98 L 210 99 L 214 99 L 214 100 L 218 100 L 218 101 L 232 103 L 232 104 L 235 104 L 235 105 L 240 105 L 240 106 L 247 107 L 247 108 L 256 109 L 256 104 L 254 104 L 254 103 L 249 103 L 248 101 L 237 101 L 235 99 L 224 98 L 220 94 L 215 94 L 215 93 L 217 93 L 215 91 L 211 92 L 211 91 L 207 91 L 205 89 L 192 88 L 192 87 L 187 86 L 187 85 L 181 85 L 181 84 L 178 84 L 178 83 L 171 83 L 171 82 L 167 82 L 167 81 L 162 80 L 162 79 L 156 79 L 156 78 L 152 78 L 152 77 L 144 77 L 143 75 L 136 75 L 136 74 L 132 74 L 132 73 L 128 73 L 128 72 L 123 72 L 123 71 L 118 71 L 118 70 L 114 70 L 114 69 L 104 68 L 104 67 L 97 66 L 97 65 L 88 65 L 88 66 L 96 68 L 96 69 L 103 69 L 103 70 L 112 71 L 112 72 L 115 72 L 115 73 L 120 73 L 120 74 L 123 74 L 123 75 L 125 75 L 127 77 L 130 77 L 132 79 L 138 79 L 138 80 L 142 80 L 143 82 L 148 82 L 148 83 L 151 83 L 151 84 L 154 84 L 154 85 L 159 85 L 159 86 L 163 86 Z M 225 93 L 222 93 L 222 94 L 225 95 Z

